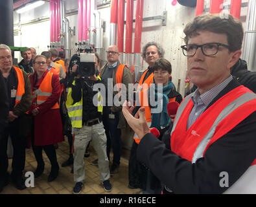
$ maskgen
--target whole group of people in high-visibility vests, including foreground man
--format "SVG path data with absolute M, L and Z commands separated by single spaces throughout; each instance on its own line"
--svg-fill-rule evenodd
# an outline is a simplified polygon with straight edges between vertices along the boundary
M 19 190 L 26 188 L 22 174 L 28 137 L 38 162 L 34 177 L 44 170 L 43 149 L 51 162 L 48 181 L 56 179 L 55 145 L 64 141 L 64 134 L 69 159 L 62 166 L 73 164 L 73 193 L 84 185 L 89 142 L 97 153 L 93 164 L 99 166 L 102 187 L 111 191 L 110 175 L 118 173 L 121 160 L 121 129 L 129 127 L 134 132 L 129 188 L 143 193 L 255 192 L 256 74 L 240 60 L 242 24 L 232 16 L 205 14 L 187 24 L 184 33 L 181 48 L 194 83 L 184 99 L 172 83 L 170 61 L 154 41 L 143 47 L 148 69 L 132 94 L 132 73 L 119 62 L 115 45 L 106 50 L 108 62 L 101 69 L 95 53 L 95 73 L 84 76 L 72 60 L 58 58 L 56 50 L 32 58 L 28 49 L 21 52 L 20 68 L 13 66 L 11 50 L 1 44 L 0 87 L 6 93 L 0 98 L 0 191 L 9 178 Z M 100 84 L 105 96 L 95 89 Z M 172 102 L 180 105 L 174 122 L 168 109 Z M 14 147 L 11 175 L 8 136 Z M 221 184 L 225 173 L 228 179 Z

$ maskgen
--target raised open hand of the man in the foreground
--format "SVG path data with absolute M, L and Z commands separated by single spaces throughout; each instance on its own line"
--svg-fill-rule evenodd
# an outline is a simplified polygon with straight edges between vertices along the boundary
M 148 127 L 148 124 L 146 124 L 145 107 L 140 107 L 135 116 L 132 116 L 133 110 L 134 106 L 130 107 L 127 101 L 122 105 L 122 114 L 124 114 L 124 118 L 141 139 L 147 133 L 150 133 L 150 128 Z

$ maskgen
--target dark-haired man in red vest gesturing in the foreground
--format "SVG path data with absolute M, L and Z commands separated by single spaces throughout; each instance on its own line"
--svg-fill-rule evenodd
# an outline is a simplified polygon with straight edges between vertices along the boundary
M 181 102 L 170 147 L 150 133 L 145 109 L 128 124 L 141 138 L 137 158 L 173 193 L 256 193 L 256 95 L 230 74 L 239 60 L 242 23 L 229 15 L 198 16 L 184 29 L 191 82 L 198 89 Z

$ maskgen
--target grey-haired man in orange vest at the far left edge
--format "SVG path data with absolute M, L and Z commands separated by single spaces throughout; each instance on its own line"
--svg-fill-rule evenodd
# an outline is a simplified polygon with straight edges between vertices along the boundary
M 12 157 L 11 179 L 18 190 L 26 188 L 22 178 L 25 167 L 26 135 L 25 129 L 30 123 L 23 118 L 32 103 L 31 85 L 25 71 L 12 66 L 12 52 L 6 45 L 0 44 L 0 71 L 3 74 L 7 89 L 8 125 L 0 140 L 0 191 L 9 182 L 8 157 L 6 155 L 8 136 L 12 139 L 14 154 Z M 4 93 L 1 91 L 1 93 Z

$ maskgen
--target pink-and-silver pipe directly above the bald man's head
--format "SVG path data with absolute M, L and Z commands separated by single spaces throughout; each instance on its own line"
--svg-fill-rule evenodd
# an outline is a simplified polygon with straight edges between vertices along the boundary
M 110 45 L 117 45 L 118 0 L 111 0 L 110 10 Z

